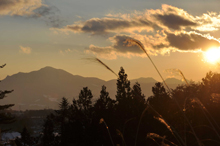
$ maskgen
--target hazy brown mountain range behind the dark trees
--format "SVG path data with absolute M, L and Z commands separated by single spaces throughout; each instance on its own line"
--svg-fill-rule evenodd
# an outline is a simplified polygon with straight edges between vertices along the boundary
M 168 80 L 172 86 L 176 86 L 181 81 L 175 79 Z M 111 98 L 115 99 L 117 80 L 104 81 L 93 77 L 82 77 L 72 75 L 64 70 L 45 67 L 30 73 L 17 73 L 7 76 L 0 83 L 1 90 L 11 90 L 14 92 L 1 101 L 1 104 L 14 103 L 12 109 L 45 109 L 58 108 L 58 103 L 62 97 L 69 99 L 78 98 L 79 92 L 83 87 L 88 88 L 93 93 L 93 100 L 97 100 L 101 86 L 105 85 Z M 157 82 L 153 78 L 139 78 L 131 80 L 131 87 L 135 82 L 141 84 L 141 88 L 146 97 L 152 92 L 152 86 Z M 168 83 L 168 84 L 169 84 Z

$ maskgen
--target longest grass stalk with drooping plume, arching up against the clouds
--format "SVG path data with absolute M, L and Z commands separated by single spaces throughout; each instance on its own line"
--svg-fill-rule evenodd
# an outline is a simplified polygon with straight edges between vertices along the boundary
M 150 56 L 148 55 L 148 53 L 147 53 L 147 51 L 145 50 L 145 48 L 144 48 L 144 46 L 142 45 L 142 43 L 139 42 L 139 41 L 137 41 L 137 40 L 134 40 L 134 39 L 127 39 L 127 41 L 130 42 L 131 44 L 133 43 L 134 45 L 139 46 L 140 49 L 145 52 L 145 54 L 147 55 L 147 57 L 149 58 L 149 60 L 150 60 L 151 63 L 153 64 L 154 68 L 156 69 L 157 73 L 158 73 L 159 76 L 161 77 L 161 79 L 162 79 L 164 85 L 167 87 L 169 93 L 171 94 L 171 90 L 170 90 L 169 86 L 166 84 L 164 78 L 163 78 L 162 75 L 160 74 L 160 72 L 159 72 L 159 70 L 157 69 L 156 65 L 154 64 L 153 60 L 152 60 L 152 59 L 150 58 Z M 188 118 L 186 117 L 186 115 L 183 113 L 183 111 L 182 111 L 182 109 L 181 109 L 181 107 L 180 107 L 178 101 L 177 101 L 175 98 L 173 98 L 173 99 L 174 99 L 174 101 L 176 102 L 176 105 L 178 106 L 180 112 L 182 112 L 182 114 L 183 114 L 184 118 L 186 119 L 187 123 L 189 124 L 190 129 L 192 130 L 192 132 L 193 132 L 193 134 L 194 134 L 194 136 L 195 136 L 195 138 L 196 138 L 196 140 L 197 140 L 198 145 L 201 146 L 201 142 L 200 142 L 199 138 L 197 137 L 197 135 L 196 135 L 196 133 L 195 133 L 195 131 L 194 131 L 192 125 L 190 124 L 189 119 L 188 119 Z

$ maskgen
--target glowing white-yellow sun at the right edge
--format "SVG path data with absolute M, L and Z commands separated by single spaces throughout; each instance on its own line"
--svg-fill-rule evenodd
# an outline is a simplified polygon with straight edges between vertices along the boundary
M 208 51 L 204 52 L 205 60 L 209 63 L 215 64 L 220 61 L 220 47 L 210 48 Z

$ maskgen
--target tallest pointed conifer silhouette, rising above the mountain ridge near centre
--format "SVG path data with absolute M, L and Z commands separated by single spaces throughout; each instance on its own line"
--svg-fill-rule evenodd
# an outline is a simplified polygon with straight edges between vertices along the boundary
M 130 81 L 127 79 L 125 70 L 121 67 L 118 73 L 117 79 L 117 94 L 116 94 L 116 105 L 115 105 L 115 127 L 120 131 L 119 135 L 123 136 L 118 141 L 118 144 L 123 144 L 125 141 L 132 141 L 132 135 L 134 135 L 134 127 L 130 125 L 135 122 L 137 115 L 134 115 L 134 105 L 132 98 L 132 90 L 130 87 Z M 129 130 L 129 131 L 128 131 Z

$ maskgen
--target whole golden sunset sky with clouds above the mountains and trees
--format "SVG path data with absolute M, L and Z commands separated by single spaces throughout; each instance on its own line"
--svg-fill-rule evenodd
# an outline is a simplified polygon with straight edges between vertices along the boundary
M 146 54 L 128 46 L 133 38 L 164 78 L 180 79 L 171 73 L 179 69 L 198 81 L 220 71 L 219 8 L 219 0 L 0 0 L 0 79 L 45 66 L 115 79 L 97 57 L 129 79 L 161 81 Z

